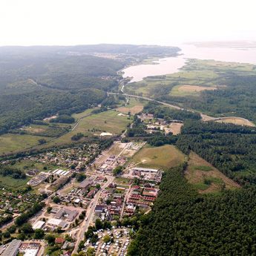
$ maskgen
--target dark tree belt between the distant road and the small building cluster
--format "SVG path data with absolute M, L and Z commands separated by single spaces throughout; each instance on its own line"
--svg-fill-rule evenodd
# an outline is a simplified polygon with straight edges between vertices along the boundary
M 144 107 L 144 111 L 148 114 L 154 114 L 154 118 L 162 118 L 166 121 L 170 121 L 171 119 L 181 121 L 186 119 L 201 119 L 199 113 L 163 107 L 163 105 L 160 105 L 160 103 L 157 102 L 148 102 Z

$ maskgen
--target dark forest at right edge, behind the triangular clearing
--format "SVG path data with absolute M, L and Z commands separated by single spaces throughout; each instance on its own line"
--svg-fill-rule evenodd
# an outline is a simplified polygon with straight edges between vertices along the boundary
M 194 151 L 242 185 L 256 183 L 254 128 L 218 122 L 185 122 L 177 148 Z

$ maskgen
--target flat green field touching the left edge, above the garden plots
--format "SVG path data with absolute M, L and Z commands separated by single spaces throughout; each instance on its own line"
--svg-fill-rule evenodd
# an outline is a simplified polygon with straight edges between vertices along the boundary
M 20 135 L 20 134 L 4 134 L 0 136 L 0 154 L 7 154 L 22 149 L 30 148 L 39 145 L 39 140 L 50 140 L 47 137 L 33 136 L 33 135 Z

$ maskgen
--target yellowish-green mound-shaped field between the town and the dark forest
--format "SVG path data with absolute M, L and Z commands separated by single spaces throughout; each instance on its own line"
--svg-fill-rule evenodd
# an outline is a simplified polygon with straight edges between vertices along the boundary
M 161 147 L 145 146 L 131 159 L 131 163 L 138 164 L 144 168 L 171 168 L 185 160 L 185 155 L 173 145 L 163 145 Z

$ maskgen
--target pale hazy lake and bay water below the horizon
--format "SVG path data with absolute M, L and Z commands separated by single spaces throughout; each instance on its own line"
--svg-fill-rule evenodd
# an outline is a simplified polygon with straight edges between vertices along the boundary
M 182 49 L 177 57 L 159 59 L 157 65 L 136 65 L 123 70 L 123 77 L 133 77 L 131 82 L 141 81 L 146 76 L 159 76 L 176 73 L 183 68 L 187 59 L 214 59 L 222 62 L 240 62 L 256 64 L 256 49 L 234 49 L 220 47 L 196 47 L 180 45 Z

